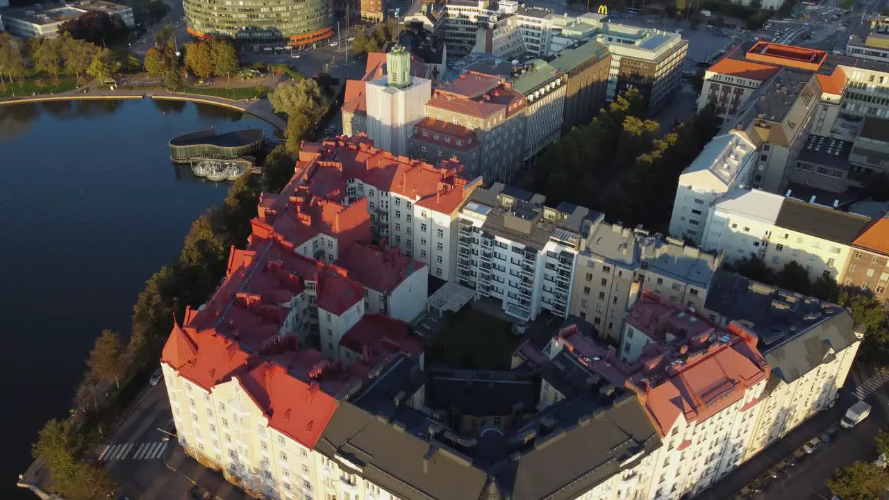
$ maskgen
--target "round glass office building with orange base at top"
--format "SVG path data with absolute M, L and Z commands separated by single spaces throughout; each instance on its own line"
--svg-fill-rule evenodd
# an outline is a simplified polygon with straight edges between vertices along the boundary
M 327 0 L 183 0 L 188 33 L 253 43 L 314 44 L 333 35 Z

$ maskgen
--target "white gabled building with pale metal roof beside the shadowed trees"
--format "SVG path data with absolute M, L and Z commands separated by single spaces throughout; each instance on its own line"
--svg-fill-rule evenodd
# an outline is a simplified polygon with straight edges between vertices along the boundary
M 759 157 L 757 145 L 739 131 L 710 140 L 692 165 L 679 175 L 670 235 L 701 245 L 710 207 L 729 190 L 749 186 L 753 165 Z

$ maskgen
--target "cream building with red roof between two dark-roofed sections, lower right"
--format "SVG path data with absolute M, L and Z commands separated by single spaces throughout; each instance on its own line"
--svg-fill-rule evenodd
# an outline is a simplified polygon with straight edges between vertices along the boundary
M 637 469 L 643 487 L 630 498 L 697 495 L 741 464 L 770 375 L 756 335 L 744 327 L 719 327 L 691 310 L 662 306 L 653 294 L 637 301 L 630 317 L 650 320 L 656 314 L 649 309 L 661 307 L 671 311 L 671 321 L 649 331 L 666 338 L 669 330 L 674 340 L 649 343 L 634 363 L 572 328 L 563 328 L 546 348 L 565 372 L 627 387 L 645 408 L 662 446 Z M 636 331 L 630 322 L 629 331 Z M 565 352 L 576 361 L 569 364 Z M 564 391 L 544 375 L 541 405 L 562 401 Z

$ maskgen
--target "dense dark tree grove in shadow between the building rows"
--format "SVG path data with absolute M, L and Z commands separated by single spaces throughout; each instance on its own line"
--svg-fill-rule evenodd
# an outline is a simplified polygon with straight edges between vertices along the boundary
M 618 96 L 589 125 L 575 127 L 533 165 L 532 190 L 553 203 L 594 206 L 626 225 L 666 229 L 677 179 L 717 131 L 705 108 L 670 133 L 647 116 L 637 90 Z

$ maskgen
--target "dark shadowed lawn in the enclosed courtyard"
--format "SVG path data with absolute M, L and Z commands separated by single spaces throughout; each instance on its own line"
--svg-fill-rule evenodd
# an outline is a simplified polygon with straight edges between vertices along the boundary
M 509 322 L 466 306 L 436 336 L 432 351 L 448 367 L 508 370 L 516 343 Z

